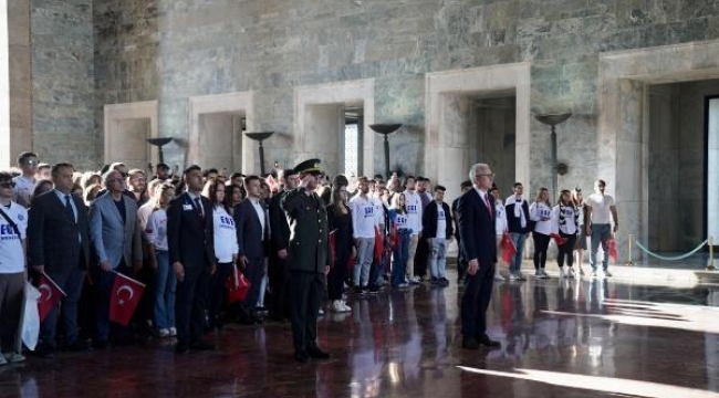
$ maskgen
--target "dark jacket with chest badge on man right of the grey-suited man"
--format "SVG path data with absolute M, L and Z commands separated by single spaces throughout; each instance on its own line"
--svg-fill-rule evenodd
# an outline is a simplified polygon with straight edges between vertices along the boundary
M 211 266 L 215 258 L 212 205 L 201 197 L 205 217 L 195 208 L 187 192 L 175 198 L 167 208 L 167 249 L 169 262 L 183 266 Z

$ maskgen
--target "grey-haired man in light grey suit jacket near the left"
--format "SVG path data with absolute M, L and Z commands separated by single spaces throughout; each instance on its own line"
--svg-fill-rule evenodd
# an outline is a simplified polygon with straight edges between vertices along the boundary
M 97 274 L 97 348 L 107 346 L 110 337 L 110 294 L 115 272 L 132 275 L 143 264 L 143 249 L 137 205 L 123 195 L 125 178 L 117 170 L 103 176 L 107 192 L 90 206 L 90 237 L 100 259 Z M 127 339 L 124 328 L 116 326 L 115 338 Z M 121 342 L 122 343 L 122 342 Z

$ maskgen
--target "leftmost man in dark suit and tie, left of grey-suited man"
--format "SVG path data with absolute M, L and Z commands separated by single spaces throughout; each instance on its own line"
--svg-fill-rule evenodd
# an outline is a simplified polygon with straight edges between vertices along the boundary
M 55 189 L 32 199 L 28 214 L 28 263 L 65 292 L 61 314 L 65 346 L 84 350 L 86 344 L 77 341 L 77 301 L 90 263 L 90 238 L 87 208 L 71 195 L 72 174 L 72 165 L 54 165 L 51 175 Z M 52 308 L 41 325 L 42 356 L 52 356 L 55 349 L 58 311 Z

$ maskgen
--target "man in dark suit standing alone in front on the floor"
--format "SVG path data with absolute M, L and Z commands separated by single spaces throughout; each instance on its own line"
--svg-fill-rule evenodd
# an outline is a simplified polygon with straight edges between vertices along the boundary
M 459 235 L 468 260 L 467 286 L 462 296 L 462 348 L 480 345 L 499 347 L 487 336 L 487 307 L 492 296 L 497 244 L 494 235 L 494 199 L 489 195 L 494 175 L 486 164 L 469 170 L 473 189 L 459 199 Z

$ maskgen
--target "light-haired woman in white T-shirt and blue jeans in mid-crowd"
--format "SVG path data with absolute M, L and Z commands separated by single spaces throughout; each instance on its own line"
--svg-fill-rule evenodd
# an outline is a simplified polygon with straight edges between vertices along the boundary
M 389 218 L 390 237 L 394 241 L 390 283 L 393 287 L 407 287 L 409 284 L 406 280 L 405 270 L 409 258 L 411 228 L 409 228 L 404 192 L 395 193 L 392 197 L 387 217 Z

